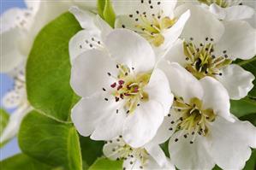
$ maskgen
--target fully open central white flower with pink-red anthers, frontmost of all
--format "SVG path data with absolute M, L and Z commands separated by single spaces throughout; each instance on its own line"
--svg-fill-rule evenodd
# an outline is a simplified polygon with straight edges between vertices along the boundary
M 116 29 L 104 45 L 106 50 L 86 50 L 74 59 L 71 86 L 83 98 L 71 118 L 83 136 L 110 140 L 122 134 L 126 143 L 140 147 L 169 112 L 168 80 L 154 69 L 151 45 L 135 32 Z

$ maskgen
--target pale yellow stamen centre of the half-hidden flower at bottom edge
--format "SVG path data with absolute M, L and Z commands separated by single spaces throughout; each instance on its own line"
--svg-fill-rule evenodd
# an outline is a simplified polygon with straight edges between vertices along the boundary
M 116 147 L 112 149 L 113 155 L 119 155 L 116 160 L 128 160 L 129 158 L 134 158 L 134 161 L 130 161 L 130 165 L 133 165 L 135 161 L 140 161 L 140 168 L 142 169 L 146 165 L 146 161 L 149 158 L 149 154 L 144 148 L 133 148 L 130 145 L 126 144 L 122 136 L 119 136 L 115 139 L 116 141 L 108 141 L 112 144 L 117 142 Z

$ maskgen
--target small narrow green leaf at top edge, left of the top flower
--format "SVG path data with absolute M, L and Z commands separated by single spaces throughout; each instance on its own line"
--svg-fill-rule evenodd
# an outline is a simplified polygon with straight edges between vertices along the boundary
M 98 15 L 108 22 L 110 26 L 115 26 L 116 14 L 110 0 L 98 0 Z

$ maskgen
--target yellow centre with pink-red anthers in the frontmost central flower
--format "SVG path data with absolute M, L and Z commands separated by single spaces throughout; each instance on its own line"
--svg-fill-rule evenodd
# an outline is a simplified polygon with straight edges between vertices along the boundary
M 149 100 L 148 94 L 144 91 L 145 86 L 148 84 L 151 72 L 134 74 L 134 67 L 129 67 L 117 64 L 116 68 L 119 73 L 115 82 L 110 87 L 112 89 L 111 95 L 115 98 L 115 102 L 123 102 L 123 107 L 127 114 L 132 114 L 134 110 L 140 106 L 141 102 Z M 108 73 L 109 76 L 112 76 Z M 113 77 L 113 76 L 112 76 Z M 107 98 L 105 100 L 108 101 Z M 118 114 L 118 109 L 116 109 Z

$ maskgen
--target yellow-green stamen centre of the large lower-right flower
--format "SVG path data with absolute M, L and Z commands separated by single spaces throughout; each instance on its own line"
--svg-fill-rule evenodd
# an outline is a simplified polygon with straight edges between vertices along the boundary
M 190 134 L 193 135 L 193 140 L 197 135 L 206 136 L 209 132 L 207 124 L 214 121 L 216 117 L 211 108 L 202 108 L 201 101 L 196 97 L 192 98 L 190 103 L 185 103 L 182 97 L 175 97 L 172 108 L 175 111 L 173 116 L 177 120 L 171 121 L 171 124 L 176 131 L 182 131 L 184 138 Z M 171 127 L 170 130 L 173 128 Z M 193 140 L 190 141 L 190 144 L 193 144 Z M 176 138 L 177 141 L 178 138 Z

